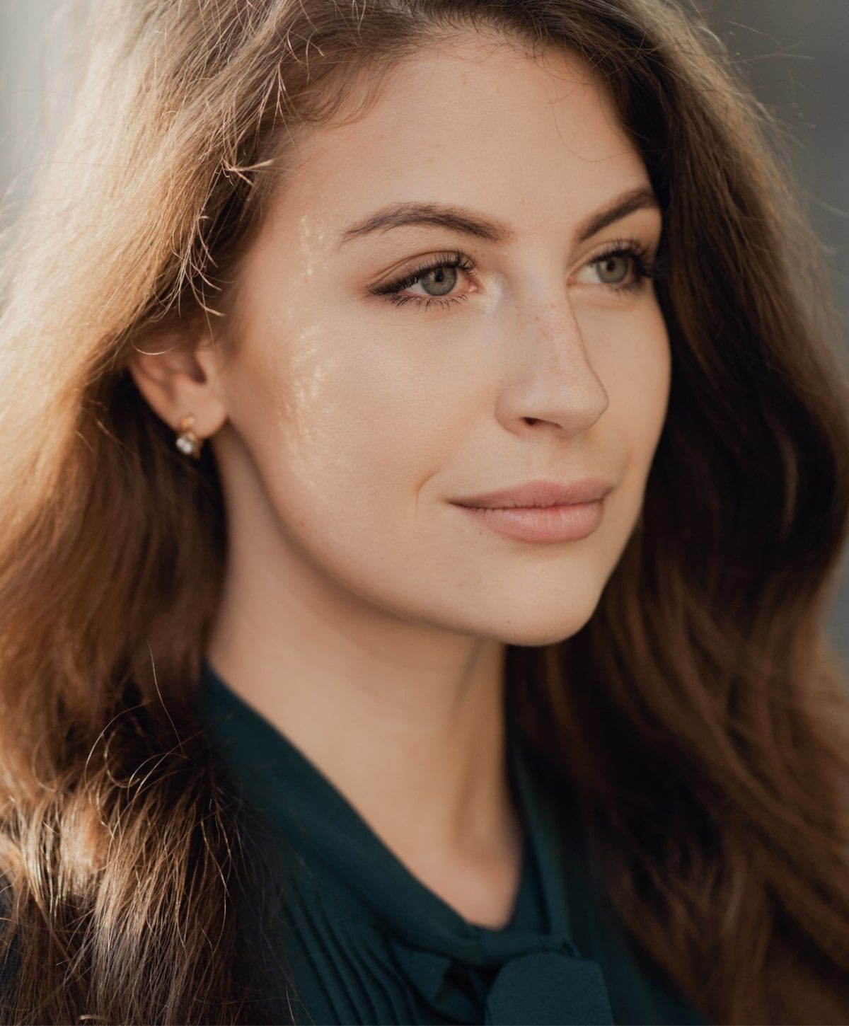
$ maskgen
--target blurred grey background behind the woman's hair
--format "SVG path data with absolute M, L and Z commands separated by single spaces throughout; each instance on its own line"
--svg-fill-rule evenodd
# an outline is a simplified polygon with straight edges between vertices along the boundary
M 176 2 L 176 0 L 173 0 Z M 739 60 L 782 126 L 808 215 L 827 247 L 849 323 L 849 0 L 687 0 Z M 53 0 L 0 0 L 0 195 L 6 218 L 26 195 L 63 115 Z M 11 189 L 11 192 L 7 190 Z M 847 352 L 844 334 L 844 353 Z M 849 551 L 828 633 L 849 667 Z

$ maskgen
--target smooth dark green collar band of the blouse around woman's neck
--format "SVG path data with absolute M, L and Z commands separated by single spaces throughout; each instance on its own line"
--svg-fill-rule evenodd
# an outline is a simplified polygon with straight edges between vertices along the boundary
M 500 928 L 466 919 L 408 869 L 318 765 L 242 699 L 206 658 L 200 682 L 207 727 L 244 797 L 267 818 L 276 840 L 289 850 L 291 865 L 307 868 L 310 859 L 319 859 L 378 918 L 417 948 L 450 953 L 472 964 L 501 961 L 529 949 L 580 957 L 573 940 L 558 824 L 528 764 L 506 687 L 508 768 L 524 829 L 517 903 L 532 868 L 527 860 L 532 859 L 541 885 L 544 932 L 516 924 L 513 916 Z M 568 818 L 565 825 L 571 829 Z

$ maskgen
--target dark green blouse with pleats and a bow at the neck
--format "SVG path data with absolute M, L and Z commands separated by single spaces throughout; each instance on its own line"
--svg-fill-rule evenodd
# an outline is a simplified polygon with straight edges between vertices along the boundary
M 253 921 L 283 958 L 262 980 L 278 1021 L 705 1026 L 617 923 L 591 879 L 578 820 L 548 800 L 509 707 L 523 870 L 511 920 L 489 929 L 418 880 L 206 661 L 201 685 L 213 743 L 270 841 Z

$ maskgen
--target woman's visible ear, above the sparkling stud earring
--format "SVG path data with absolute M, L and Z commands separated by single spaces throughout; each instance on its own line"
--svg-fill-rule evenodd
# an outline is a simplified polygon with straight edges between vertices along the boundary
M 205 333 L 168 330 L 135 343 L 129 372 L 154 411 L 174 431 L 193 413 L 199 438 L 215 434 L 227 420 L 218 385 L 221 354 Z

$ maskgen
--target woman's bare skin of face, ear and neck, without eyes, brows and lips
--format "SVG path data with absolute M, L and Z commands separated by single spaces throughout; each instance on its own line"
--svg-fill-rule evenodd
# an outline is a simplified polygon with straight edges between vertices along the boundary
M 159 355 L 132 368 L 171 427 L 195 415 L 221 470 L 231 546 L 210 662 L 420 881 L 487 925 L 509 917 L 520 870 L 504 643 L 559 641 L 590 619 L 665 416 L 652 282 L 616 291 L 591 263 L 617 239 L 650 256 L 659 212 L 576 241 L 641 185 L 637 151 L 576 58 L 540 64 L 475 35 L 422 51 L 366 117 L 304 137 L 241 269 L 226 344 L 148 346 Z M 416 200 L 515 235 L 416 226 L 339 246 L 353 223 Z M 404 294 L 456 303 L 369 292 L 454 250 L 474 272 Z M 615 487 L 576 541 L 509 540 L 450 505 L 587 476 Z

